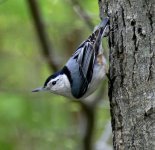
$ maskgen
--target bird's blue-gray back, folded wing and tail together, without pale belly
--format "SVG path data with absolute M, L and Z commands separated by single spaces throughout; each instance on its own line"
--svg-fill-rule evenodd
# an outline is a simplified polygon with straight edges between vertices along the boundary
M 92 80 L 95 59 L 99 53 L 101 39 L 108 21 L 108 18 L 102 21 L 99 28 L 77 48 L 67 63 L 72 76 L 71 91 L 76 98 L 80 98 L 86 93 Z

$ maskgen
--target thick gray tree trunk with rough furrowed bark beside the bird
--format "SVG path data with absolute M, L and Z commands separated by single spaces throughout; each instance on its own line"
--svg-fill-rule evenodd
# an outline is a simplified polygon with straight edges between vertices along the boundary
M 155 0 L 99 0 L 110 15 L 109 99 L 116 150 L 155 150 Z

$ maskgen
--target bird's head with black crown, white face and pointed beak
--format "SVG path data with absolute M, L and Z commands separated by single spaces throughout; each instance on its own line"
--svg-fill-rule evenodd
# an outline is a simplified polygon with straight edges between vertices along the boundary
M 55 94 L 68 96 L 71 92 L 70 83 L 67 76 L 57 72 L 49 76 L 43 87 L 36 88 L 32 92 L 49 91 Z

